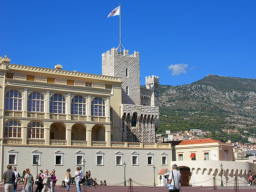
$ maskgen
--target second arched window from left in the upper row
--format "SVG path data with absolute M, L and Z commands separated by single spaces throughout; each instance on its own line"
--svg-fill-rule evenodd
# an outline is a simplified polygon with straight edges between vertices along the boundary
M 28 96 L 28 112 L 44 112 L 44 96 L 39 92 L 33 92 Z

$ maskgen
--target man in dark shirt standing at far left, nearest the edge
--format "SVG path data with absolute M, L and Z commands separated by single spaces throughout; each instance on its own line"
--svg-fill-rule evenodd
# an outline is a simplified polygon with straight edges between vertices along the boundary
M 12 166 L 7 165 L 7 171 L 3 175 L 4 179 L 4 192 L 14 192 L 15 174 L 12 171 Z

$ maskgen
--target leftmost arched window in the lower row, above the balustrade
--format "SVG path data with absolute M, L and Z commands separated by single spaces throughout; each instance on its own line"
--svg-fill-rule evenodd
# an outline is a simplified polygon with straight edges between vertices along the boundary
M 16 120 L 9 120 L 4 125 L 4 137 L 21 138 L 21 124 Z

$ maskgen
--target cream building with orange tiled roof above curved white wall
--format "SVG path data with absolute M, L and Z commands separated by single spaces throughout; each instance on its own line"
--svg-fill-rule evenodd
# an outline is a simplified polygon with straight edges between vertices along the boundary
M 183 186 L 212 186 L 213 177 L 220 185 L 221 176 L 224 186 L 232 186 L 234 177 L 247 183 L 249 171 L 256 173 L 254 164 L 234 161 L 231 144 L 210 138 L 165 143 L 172 144 L 172 164 L 178 165 Z

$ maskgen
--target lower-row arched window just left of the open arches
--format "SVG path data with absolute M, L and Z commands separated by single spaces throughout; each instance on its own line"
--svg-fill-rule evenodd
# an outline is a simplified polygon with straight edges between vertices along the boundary
M 27 138 L 43 139 L 44 126 L 40 122 L 31 122 L 27 126 Z

